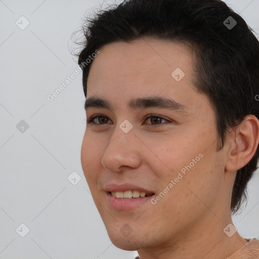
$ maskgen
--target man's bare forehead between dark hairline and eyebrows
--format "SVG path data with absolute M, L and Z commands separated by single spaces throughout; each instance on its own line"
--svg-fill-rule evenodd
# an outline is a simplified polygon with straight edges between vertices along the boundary
M 182 44 L 148 38 L 111 42 L 91 65 L 87 97 L 106 99 L 118 108 L 129 107 L 136 98 L 169 97 L 194 108 L 201 103 L 195 100 L 200 94 L 193 78 L 192 54 Z

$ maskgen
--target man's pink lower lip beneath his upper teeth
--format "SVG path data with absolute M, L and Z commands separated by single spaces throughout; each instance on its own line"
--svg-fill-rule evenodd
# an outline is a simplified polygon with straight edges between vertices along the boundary
M 114 209 L 134 209 L 150 201 L 154 195 L 143 198 L 121 199 L 107 193 L 108 202 Z

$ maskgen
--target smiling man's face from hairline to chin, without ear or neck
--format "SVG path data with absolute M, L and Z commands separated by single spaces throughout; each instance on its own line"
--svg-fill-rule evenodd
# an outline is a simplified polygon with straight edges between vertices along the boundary
M 215 115 L 193 78 L 190 52 L 156 39 L 113 42 L 93 61 L 87 98 L 105 99 L 113 110 L 87 109 L 88 119 L 100 117 L 87 125 L 81 163 L 108 235 L 121 249 L 166 245 L 197 234 L 198 226 L 202 235 L 219 221 L 211 211 L 221 211 L 226 152 L 216 152 Z M 138 98 L 182 106 L 127 106 Z M 108 184 L 132 184 L 154 195 L 122 200 Z

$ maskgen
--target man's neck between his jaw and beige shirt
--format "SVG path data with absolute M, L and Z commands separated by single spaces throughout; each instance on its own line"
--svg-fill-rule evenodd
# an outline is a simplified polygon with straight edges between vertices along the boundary
M 231 215 L 224 221 L 220 219 L 223 217 L 210 212 L 209 217 L 203 218 L 195 227 L 191 226 L 176 237 L 170 236 L 166 244 L 141 248 L 138 250 L 139 256 L 141 259 L 226 259 L 247 241 L 231 227 L 225 232 L 229 235 L 235 232 L 233 236 L 229 237 L 223 231 L 228 224 L 233 225 Z

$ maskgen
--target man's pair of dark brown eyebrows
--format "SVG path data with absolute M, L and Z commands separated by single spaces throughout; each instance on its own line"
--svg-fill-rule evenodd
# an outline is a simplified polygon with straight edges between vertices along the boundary
M 112 104 L 102 98 L 97 97 L 89 97 L 85 100 L 84 109 L 87 110 L 88 108 L 104 108 L 110 111 L 114 111 L 114 107 Z M 160 108 L 160 109 L 168 109 L 172 111 L 179 111 L 183 113 L 187 113 L 186 109 L 188 107 L 168 98 L 164 97 L 146 97 L 146 98 L 137 98 L 131 99 L 127 105 L 130 109 L 146 109 L 146 108 Z

